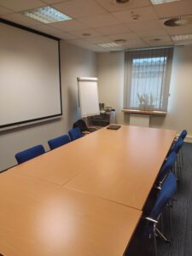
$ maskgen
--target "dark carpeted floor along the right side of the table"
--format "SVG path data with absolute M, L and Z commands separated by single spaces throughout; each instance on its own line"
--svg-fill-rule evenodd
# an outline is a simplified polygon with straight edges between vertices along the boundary
M 166 243 L 157 239 L 158 256 L 192 256 L 192 143 L 183 144 L 183 178 L 177 183 L 176 201 L 172 207 L 173 240 Z M 152 196 L 153 198 L 153 193 Z M 164 218 L 165 234 L 170 234 Z M 143 223 L 138 225 L 135 236 L 125 256 L 153 256 L 152 240 L 141 236 Z

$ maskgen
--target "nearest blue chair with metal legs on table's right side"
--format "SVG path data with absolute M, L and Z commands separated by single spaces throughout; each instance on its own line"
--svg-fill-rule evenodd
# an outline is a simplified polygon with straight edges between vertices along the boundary
M 176 177 L 174 173 L 171 172 L 166 177 L 162 185 L 162 188 L 160 189 L 160 192 L 154 203 L 154 207 L 152 208 L 152 211 L 150 212 L 149 216 L 145 218 L 148 220 L 148 224 L 145 226 L 145 235 L 147 235 L 149 238 L 153 237 L 155 255 L 157 255 L 156 236 L 159 236 L 164 241 L 168 241 L 166 236 L 164 236 L 158 229 L 158 223 L 164 208 L 166 207 L 167 203 L 169 203 L 172 200 L 172 196 L 175 195 L 176 190 L 177 190 Z M 168 208 L 170 213 L 170 207 Z M 171 230 L 172 230 L 171 215 L 170 215 L 170 224 L 171 224 Z

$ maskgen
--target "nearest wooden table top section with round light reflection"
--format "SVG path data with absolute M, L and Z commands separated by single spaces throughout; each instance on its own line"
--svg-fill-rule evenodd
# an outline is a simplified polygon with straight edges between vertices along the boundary
M 0 253 L 119 256 L 141 211 L 19 172 L 0 176 Z

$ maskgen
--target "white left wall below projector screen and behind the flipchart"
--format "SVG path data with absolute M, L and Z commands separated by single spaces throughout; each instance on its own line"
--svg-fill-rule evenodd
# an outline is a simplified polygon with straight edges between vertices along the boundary
M 61 90 L 63 116 L 61 119 L 28 125 L 0 132 L 0 171 L 14 166 L 15 153 L 42 143 L 49 149 L 49 138 L 60 136 L 79 119 L 77 77 L 96 77 L 96 54 L 61 42 Z M 11 108 L 11 106 L 10 106 Z

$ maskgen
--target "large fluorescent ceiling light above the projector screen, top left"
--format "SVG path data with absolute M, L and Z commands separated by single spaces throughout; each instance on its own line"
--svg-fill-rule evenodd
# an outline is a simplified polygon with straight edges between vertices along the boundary
M 72 20 L 71 17 L 62 14 L 58 10 L 45 6 L 38 9 L 30 9 L 20 13 L 21 15 L 26 15 L 34 20 L 38 20 L 43 23 L 52 23 L 63 20 Z

